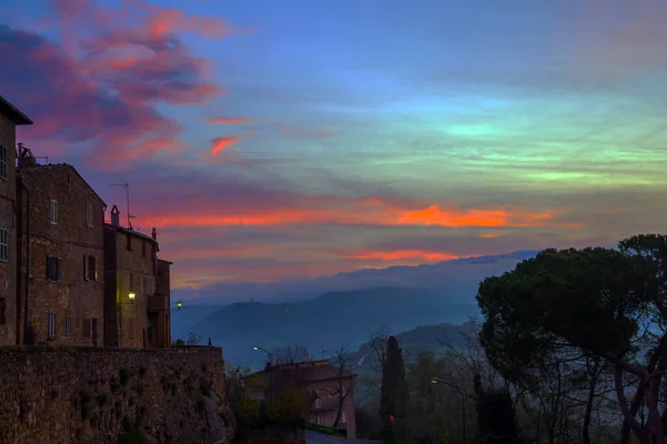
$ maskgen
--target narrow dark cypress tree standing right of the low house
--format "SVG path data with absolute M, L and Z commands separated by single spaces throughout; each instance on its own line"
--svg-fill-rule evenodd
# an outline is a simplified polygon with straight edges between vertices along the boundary
M 386 434 L 389 433 L 390 415 L 396 420 L 397 427 L 405 430 L 402 421 L 407 416 L 409 402 L 402 352 L 398 346 L 396 337 L 389 336 L 386 361 L 382 366 L 382 393 L 380 397 L 380 416 L 386 425 Z

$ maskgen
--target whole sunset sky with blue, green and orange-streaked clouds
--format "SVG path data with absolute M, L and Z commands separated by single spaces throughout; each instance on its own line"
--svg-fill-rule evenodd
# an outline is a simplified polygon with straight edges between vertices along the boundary
M 172 285 L 667 220 L 667 2 L 4 0 L 18 141 L 156 228 Z

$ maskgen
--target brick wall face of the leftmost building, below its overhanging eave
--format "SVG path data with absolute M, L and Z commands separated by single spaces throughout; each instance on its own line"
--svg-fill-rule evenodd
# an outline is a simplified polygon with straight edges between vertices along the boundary
M 0 143 L 7 150 L 7 178 L 0 178 L 0 229 L 8 234 L 8 261 L 0 261 L 0 345 L 16 344 L 16 275 L 17 275 L 17 211 L 16 211 L 16 125 L 0 114 Z

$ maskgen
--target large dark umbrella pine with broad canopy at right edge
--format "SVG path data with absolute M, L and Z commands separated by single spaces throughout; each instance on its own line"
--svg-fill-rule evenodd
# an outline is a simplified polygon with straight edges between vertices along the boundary
M 638 235 L 617 250 L 546 250 L 501 276 L 487 278 L 477 301 L 486 317 L 480 340 L 501 374 L 516 379 L 570 349 L 613 367 L 624 416 L 640 443 L 665 443 L 657 394 L 667 369 L 667 236 Z M 657 325 L 661 331 L 648 329 Z M 637 351 L 649 350 L 646 359 Z M 627 398 L 626 375 L 636 381 Z M 593 393 L 593 392 L 589 392 Z M 647 421 L 639 422 L 639 408 Z

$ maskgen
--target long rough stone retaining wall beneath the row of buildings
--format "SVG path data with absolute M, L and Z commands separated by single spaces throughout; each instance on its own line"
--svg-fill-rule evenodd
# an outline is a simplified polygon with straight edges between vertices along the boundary
M 157 443 L 233 437 L 218 347 L 0 347 L 0 381 L 7 444 L 116 444 L 137 431 Z

